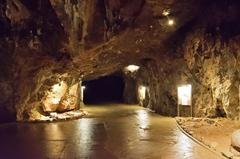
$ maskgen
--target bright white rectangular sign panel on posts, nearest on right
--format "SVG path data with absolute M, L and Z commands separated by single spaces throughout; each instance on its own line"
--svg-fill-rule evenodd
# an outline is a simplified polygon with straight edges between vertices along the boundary
M 188 84 L 178 87 L 178 104 L 192 104 L 192 85 Z

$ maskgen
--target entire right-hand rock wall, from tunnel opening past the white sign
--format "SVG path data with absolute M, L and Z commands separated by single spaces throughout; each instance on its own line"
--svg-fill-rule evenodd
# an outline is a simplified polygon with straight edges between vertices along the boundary
M 174 116 L 177 87 L 192 84 L 194 116 L 238 118 L 239 44 L 239 36 L 225 42 L 219 36 L 209 37 L 203 30 L 190 33 L 183 44 L 184 57 L 151 60 L 142 65 L 138 85 L 149 89 L 149 97 L 140 103 Z

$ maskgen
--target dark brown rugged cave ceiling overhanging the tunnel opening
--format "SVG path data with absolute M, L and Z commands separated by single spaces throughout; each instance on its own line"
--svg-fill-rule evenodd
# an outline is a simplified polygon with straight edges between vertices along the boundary
M 90 79 L 143 59 L 164 59 L 172 37 L 194 20 L 202 3 L 200 0 L 7 0 L 6 19 L 17 35 L 14 56 L 16 59 L 25 56 L 18 63 L 31 65 L 33 70 L 50 68 L 56 73 Z M 163 15 L 166 10 L 170 11 L 168 17 Z M 169 18 L 174 25 L 168 25 Z

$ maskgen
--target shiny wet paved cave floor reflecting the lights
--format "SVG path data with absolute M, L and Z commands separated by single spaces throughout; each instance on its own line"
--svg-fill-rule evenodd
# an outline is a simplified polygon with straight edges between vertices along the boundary
M 176 126 L 134 105 L 86 106 L 89 115 L 54 123 L 0 126 L 0 158 L 215 159 Z

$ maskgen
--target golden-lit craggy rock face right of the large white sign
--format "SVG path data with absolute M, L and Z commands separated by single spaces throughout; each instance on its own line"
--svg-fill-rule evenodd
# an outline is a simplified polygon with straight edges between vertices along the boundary
M 239 117 L 239 37 L 225 40 L 197 30 L 187 38 L 184 53 L 196 82 L 196 115 Z

